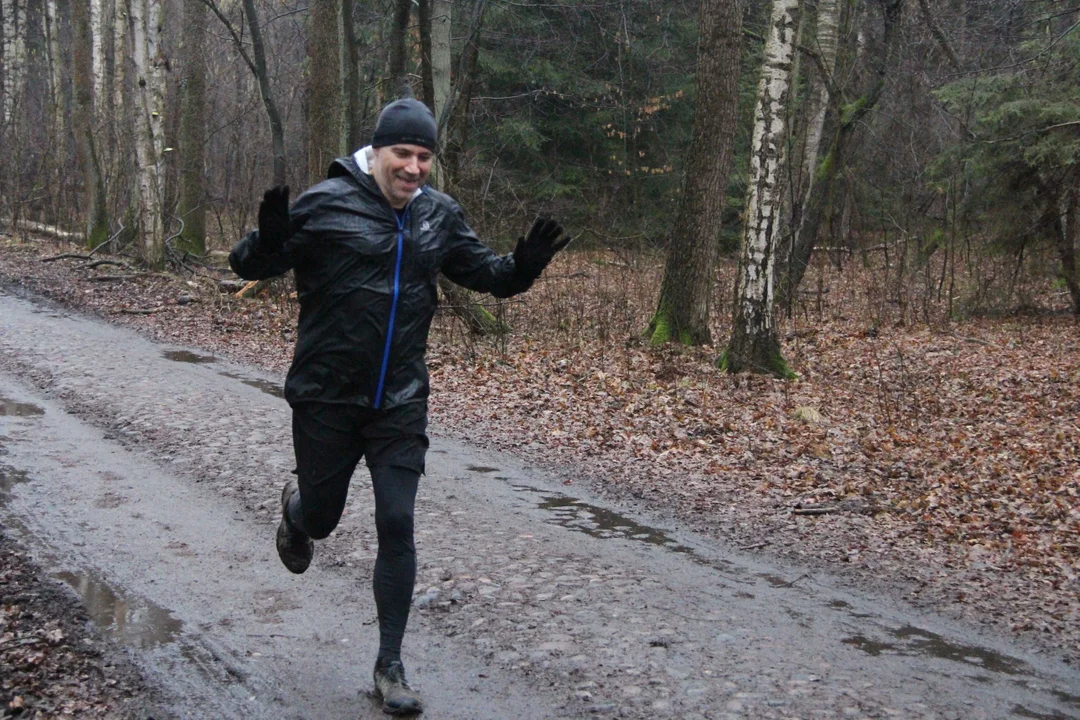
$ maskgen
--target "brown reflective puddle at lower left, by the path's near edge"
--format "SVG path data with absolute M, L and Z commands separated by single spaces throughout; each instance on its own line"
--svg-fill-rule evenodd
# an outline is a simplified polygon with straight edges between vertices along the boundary
M 184 623 L 165 609 L 146 600 L 118 595 L 107 583 L 89 573 L 57 572 L 54 578 L 70 585 L 86 608 L 91 622 L 112 639 L 131 648 L 152 648 L 174 641 Z

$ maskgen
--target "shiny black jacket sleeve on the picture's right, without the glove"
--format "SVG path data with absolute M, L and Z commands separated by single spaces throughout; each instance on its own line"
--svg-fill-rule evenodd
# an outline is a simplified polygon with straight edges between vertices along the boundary
M 535 279 L 517 272 L 512 255 L 497 255 L 480 242 L 459 205 L 455 204 L 451 212 L 454 222 L 449 252 L 442 267 L 444 275 L 470 290 L 490 293 L 497 298 L 509 298 L 532 286 Z

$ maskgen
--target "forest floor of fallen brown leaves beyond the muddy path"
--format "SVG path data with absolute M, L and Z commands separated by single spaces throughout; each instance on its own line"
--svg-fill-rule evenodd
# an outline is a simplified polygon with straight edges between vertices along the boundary
M 60 254 L 84 250 L 0 237 L 0 282 L 288 366 L 285 281 L 239 299 L 219 287 L 230 273 L 44 261 Z M 820 302 L 782 327 L 798 373 L 782 381 L 719 373 L 715 347 L 646 347 L 659 267 L 571 254 L 497 305 L 508 335 L 476 341 L 441 311 L 432 420 L 567 485 L 1080 662 L 1080 324 L 1058 308 L 916 323 L 914 301 L 889 310 L 873 282 L 823 279 Z

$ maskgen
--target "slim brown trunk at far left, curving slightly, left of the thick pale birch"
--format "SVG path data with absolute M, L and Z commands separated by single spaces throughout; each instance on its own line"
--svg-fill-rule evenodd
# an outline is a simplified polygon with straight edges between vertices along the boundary
M 79 164 L 82 169 L 86 245 L 97 247 L 109 239 L 109 219 L 105 209 L 105 174 L 94 133 L 93 33 L 90 0 L 72 0 L 72 84 L 75 106 L 72 124 Z

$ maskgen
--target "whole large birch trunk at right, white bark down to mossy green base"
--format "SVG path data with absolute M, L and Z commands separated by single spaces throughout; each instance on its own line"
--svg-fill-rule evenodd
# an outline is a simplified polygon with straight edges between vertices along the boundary
M 731 342 L 720 361 L 729 372 L 750 370 L 793 377 L 780 353 L 772 313 L 772 283 L 783 179 L 780 169 L 798 15 L 798 0 L 773 0 L 754 112 Z

